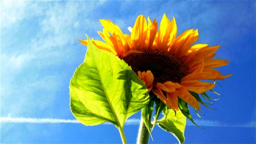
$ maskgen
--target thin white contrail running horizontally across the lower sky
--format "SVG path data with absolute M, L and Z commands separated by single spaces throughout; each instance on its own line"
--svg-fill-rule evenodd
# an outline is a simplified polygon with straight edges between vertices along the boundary
M 36 118 L 11 118 L 11 117 L 0 117 L 1 123 L 80 123 L 78 120 L 66 120 L 66 119 L 36 119 Z M 128 119 L 125 122 L 125 125 L 139 125 L 139 119 Z M 237 125 L 228 125 L 222 124 L 219 121 L 214 120 L 195 120 L 199 126 L 209 126 L 209 127 L 241 127 L 241 128 L 256 128 L 256 122 L 251 121 L 244 124 Z M 105 125 L 109 125 L 111 123 L 106 122 Z M 187 121 L 187 126 L 195 126 L 190 121 Z

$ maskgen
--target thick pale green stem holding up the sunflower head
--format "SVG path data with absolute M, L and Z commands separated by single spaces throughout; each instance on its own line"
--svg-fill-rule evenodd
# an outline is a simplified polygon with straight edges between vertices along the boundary
M 152 113 L 151 113 L 151 115 L 152 115 Z M 150 115 L 150 119 L 151 119 L 151 115 Z M 149 132 L 146 128 L 146 125 L 145 125 L 142 117 L 141 117 L 140 128 L 139 128 L 138 138 L 137 138 L 137 144 L 147 144 L 148 138 L 149 138 Z

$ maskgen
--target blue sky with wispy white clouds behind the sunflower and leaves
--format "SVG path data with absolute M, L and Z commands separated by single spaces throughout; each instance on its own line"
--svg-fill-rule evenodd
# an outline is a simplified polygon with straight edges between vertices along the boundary
M 185 143 L 256 143 L 255 1 L 0 2 L 0 143 L 121 143 L 113 125 L 72 121 L 68 86 L 86 52 L 77 39 L 100 39 L 99 19 L 129 33 L 138 15 L 159 24 L 163 13 L 175 17 L 178 34 L 198 28 L 196 43 L 221 45 L 216 58 L 231 61 L 218 68 L 233 75 L 214 88 L 222 95 L 216 110 L 202 108 L 203 119 L 193 114 L 203 129 L 188 122 Z M 124 127 L 128 143 L 135 143 L 138 119 L 140 112 Z M 177 143 L 158 127 L 152 135 L 149 143 Z

